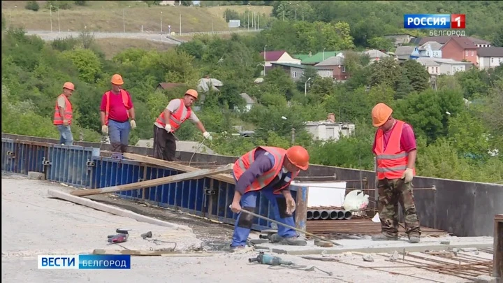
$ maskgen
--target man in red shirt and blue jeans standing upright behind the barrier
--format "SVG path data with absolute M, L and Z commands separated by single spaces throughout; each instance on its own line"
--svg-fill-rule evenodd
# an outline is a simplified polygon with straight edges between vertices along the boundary
M 101 99 L 101 132 L 110 136 L 113 152 L 126 152 L 129 132 L 136 128 L 133 101 L 121 87 L 124 85 L 121 75 L 112 75 L 110 82 L 112 89 Z

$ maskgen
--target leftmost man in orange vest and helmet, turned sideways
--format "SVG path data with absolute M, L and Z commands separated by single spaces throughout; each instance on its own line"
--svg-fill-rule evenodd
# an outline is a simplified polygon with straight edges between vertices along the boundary
M 70 96 L 75 90 L 75 85 L 71 82 L 63 84 L 63 93 L 59 94 L 56 106 L 54 107 L 54 122 L 59 131 L 59 143 L 61 145 L 73 145 L 73 134 L 70 125 L 73 117 L 73 110 L 70 103 Z

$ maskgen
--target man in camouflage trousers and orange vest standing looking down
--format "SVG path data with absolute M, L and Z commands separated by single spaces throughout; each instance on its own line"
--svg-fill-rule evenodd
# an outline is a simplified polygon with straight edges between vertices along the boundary
M 416 175 L 416 138 L 412 127 L 392 117 L 384 103 L 372 109 L 372 124 L 378 127 L 372 150 L 377 161 L 378 211 L 381 234 L 372 240 L 398 240 L 398 203 L 402 206 L 409 242 L 419 242 L 421 228 L 414 205 L 412 179 Z

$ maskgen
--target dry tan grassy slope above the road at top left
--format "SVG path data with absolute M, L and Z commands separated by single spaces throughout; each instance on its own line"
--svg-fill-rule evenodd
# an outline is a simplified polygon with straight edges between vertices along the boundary
M 109 31 L 122 32 L 160 32 L 161 17 L 163 32 L 180 31 L 180 15 L 182 17 L 182 32 L 192 31 L 225 31 L 228 25 L 224 21 L 224 10 L 221 7 L 184 7 L 184 6 L 151 6 L 138 1 L 87 1 L 87 6 L 75 6 L 69 10 L 52 11 L 45 7 L 47 1 L 37 1 L 40 10 L 34 12 L 24 8 L 27 1 L 1 1 L 2 13 L 6 25 L 23 27 L 27 30 L 58 30 L 61 31 Z M 73 1 L 69 1 L 73 2 Z M 227 6 L 240 13 L 245 6 Z M 270 14 L 271 7 L 254 6 L 254 10 Z M 162 12 L 162 13 L 161 13 Z M 123 24 L 124 13 L 124 24 Z

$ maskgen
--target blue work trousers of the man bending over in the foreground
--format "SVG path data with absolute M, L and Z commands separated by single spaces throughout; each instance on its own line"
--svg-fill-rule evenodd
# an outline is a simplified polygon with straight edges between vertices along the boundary
M 259 193 L 263 194 L 266 198 L 268 198 L 271 204 L 274 219 L 277 222 L 281 222 L 283 224 L 295 227 L 295 221 L 293 220 L 292 216 L 285 218 L 280 217 L 279 208 L 277 205 L 277 198 L 284 198 L 284 196 L 282 194 L 280 195 L 274 194 L 272 188 L 265 187 L 260 191 L 249 191 L 243 194 L 241 198 L 241 208 L 242 209 L 245 207 L 256 208 L 256 200 L 257 197 L 259 196 Z M 241 215 L 242 212 L 240 212 L 240 214 L 238 215 L 238 219 L 236 219 L 234 224 L 234 234 L 231 243 L 232 247 L 245 246 L 250 233 L 250 228 L 244 228 L 238 226 Z M 291 228 L 286 228 L 285 226 L 278 225 L 278 235 L 282 236 L 283 238 L 291 238 L 297 236 L 297 233 L 295 230 Z

